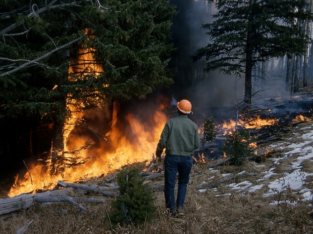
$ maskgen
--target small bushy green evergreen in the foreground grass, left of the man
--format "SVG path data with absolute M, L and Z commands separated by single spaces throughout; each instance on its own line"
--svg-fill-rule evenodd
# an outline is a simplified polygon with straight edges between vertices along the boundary
M 143 182 L 135 167 L 125 168 L 117 174 L 120 197 L 111 202 L 109 218 L 113 223 L 142 224 L 155 217 L 157 207 L 153 191 Z

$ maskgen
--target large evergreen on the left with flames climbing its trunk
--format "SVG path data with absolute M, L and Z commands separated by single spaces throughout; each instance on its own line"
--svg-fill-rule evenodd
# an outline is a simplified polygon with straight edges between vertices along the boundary
M 172 83 L 174 14 L 168 0 L 2 1 L 1 127 L 16 126 L 28 156 L 49 151 L 58 160 L 64 122 L 73 112 L 110 107 Z M 34 132 L 43 126 L 52 134 L 36 135 L 50 143 L 42 149 Z

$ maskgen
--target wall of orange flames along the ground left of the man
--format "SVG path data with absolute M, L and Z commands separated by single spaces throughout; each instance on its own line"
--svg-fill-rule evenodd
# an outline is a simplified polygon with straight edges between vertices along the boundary
M 73 152 L 90 145 L 75 153 L 75 157 L 84 163 L 65 167 L 63 173 L 54 173 L 43 162 L 34 162 L 25 175 L 17 176 L 8 196 L 52 189 L 58 180 L 77 182 L 107 175 L 134 162 L 150 163 L 167 119 L 163 112 L 165 106 L 158 100 L 130 103 L 114 104 L 111 121 L 107 118 L 109 110 L 106 107 L 81 114 L 83 123 L 72 118 L 76 120 L 67 125 L 70 128 L 67 129 L 65 150 Z M 65 155 L 65 160 L 72 156 Z

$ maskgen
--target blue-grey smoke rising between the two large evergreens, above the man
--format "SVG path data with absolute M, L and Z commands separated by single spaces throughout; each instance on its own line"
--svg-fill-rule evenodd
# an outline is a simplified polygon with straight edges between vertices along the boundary
M 200 115 L 200 118 L 206 110 L 237 103 L 243 94 L 242 80 L 218 71 L 205 73 L 204 59 L 193 63 L 190 58 L 197 49 L 209 43 L 209 36 L 202 26 L 212 22 L 215 5 L 206 0 L 171 0 L 171 3 L 178 11 L 171 28 L 176 48 L 171 63 L 176 68 L 172 95 L 176 100 L 189 99 L 194 117 Z

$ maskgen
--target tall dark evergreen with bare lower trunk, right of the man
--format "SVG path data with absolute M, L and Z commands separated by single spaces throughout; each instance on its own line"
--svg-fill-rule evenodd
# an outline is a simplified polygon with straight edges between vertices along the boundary
M 203 25 L 210 42 L 194 53 L 193 61 L 205 57 L 206 72 L 218 69 L 245 78 L 247 109 L 253 95 L 253 70 L 261 70 L 258 62 L 304 53 L 308 38 L 299 22 L 312 17 L 306 4 L 306 0 L 216 1 L 215 21 Z

